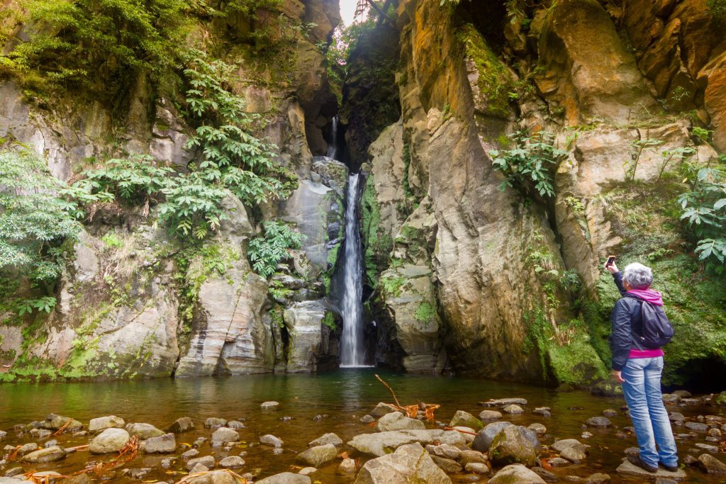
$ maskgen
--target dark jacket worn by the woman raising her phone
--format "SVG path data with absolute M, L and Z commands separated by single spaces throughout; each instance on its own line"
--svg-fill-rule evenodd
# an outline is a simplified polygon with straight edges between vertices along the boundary
M 628 297 L 627 291 L 623 286 L 623 274 L 617 271 L 613 274 L 615 285 L 623 296 L 615 303 L 613 313 L 610 315 L 612 329 L 610 333 L 610 349 L 613 352 L 613 370 L 620 371 L 628 361 L 630 350 L 635 348 L 642 350 L 633 339 L 632 334 L 643 333 L 643 316 L 640 311 L 642 302 L 635 297 Z

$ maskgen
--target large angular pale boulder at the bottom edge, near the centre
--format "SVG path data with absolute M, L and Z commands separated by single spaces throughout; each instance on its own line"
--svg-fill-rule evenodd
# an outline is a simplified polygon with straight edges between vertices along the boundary
M 452 481 L 433 462 L 420 443 L 400 446 L 393 454 L 366 462 L 355 484 L 450 484 Z

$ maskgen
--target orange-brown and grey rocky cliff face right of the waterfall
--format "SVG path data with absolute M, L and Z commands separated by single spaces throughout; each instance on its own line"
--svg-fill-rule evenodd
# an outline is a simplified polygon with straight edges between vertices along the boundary
M 722 367 L 723 281 L 691 272 L 675 202 L 684 188 L 667 175 L 677 160 L 661 155 L 690 147 L 704 163 L 717 158 L 690 133 L 709 120 L 719 129 L 704 96 L 716 81 L 698 73 L 723 46 L 690 37 L 715 22 L 705 4 L 439 3 L 399 4 L 402 116 L 364 165 L 372 306 L 399 364 L 550 384 L 605 377 L 617 292 L 601 266 L 616 253 L 621 266 L 653 266 L 668 295 L 683 335 L 669 347 L 668 381 L 697 380 L 688 365 Z M 672 114 L 693 108 L 696 118 Z M 550 200 L 497 188 L 488 152 L 521 128 L 552 132 L 567 152 Z M 639 140 L 658 148 L 634 162 Z M 684 273 L 693 279 L 679 282 Z

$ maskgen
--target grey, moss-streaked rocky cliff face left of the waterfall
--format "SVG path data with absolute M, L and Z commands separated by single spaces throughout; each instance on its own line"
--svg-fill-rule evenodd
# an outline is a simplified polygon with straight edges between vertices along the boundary
M 325 281 L 340 243 L 347 168 L 313 158 L 327 151 L 323 132 L 337 111 L 325 57 L 313 42 L 330 37 L 340 20 L 338 4 L 286 1 L 272 14 L 315 28 L 295 34 L 285 72 L 264 79 L 259 65 L 248 62 L 235 75 L 234 90 L 247 112 L 266 119 L 264 134 L 279 147 L 279 163 L 298 176 L 298 188 L 254 216 L 229 194 L 227 220 L 194 247 L 158 226 L 153 207 L 99 207 L 68 247 L 55 308 L 19 317 L 11 304 L 2 306 L 4 380 L 312 372 L 319 361 L 335 358 Z M 221 24 L 203 24 L 209 41 L 229 55 L 245 55 L 249 46 L 234 44 L 229 31 L 249 25 L 233 18 Z M 17 37 L 27 40 L 19 29 Z M 199 156 L 187 147 L 192 128 L 163 78 L 140 78 L 123 112 L 102 102 L 75 104 L 72 91 L 41 105 L 12 78 L 0 92 L 0 139 L 43 155 L 58 179 L 134 152 L 180 166 Z M 303 243 L 268 281 L 252 271 L 246 248 L 261 222 L 272 219 L 288 221 Z

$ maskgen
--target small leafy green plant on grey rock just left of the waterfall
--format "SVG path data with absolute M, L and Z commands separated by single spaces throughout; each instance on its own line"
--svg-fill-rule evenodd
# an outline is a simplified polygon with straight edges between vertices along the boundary
M 263 226 L 264 234 L 250 240 L 247 254 L 254 271 L 269 277 L 277 268 L 277 263 L 290 256 L 290 249 L 300 247 L 303 236 L 282 222 L 268 221 Z

